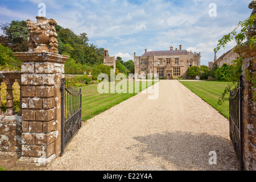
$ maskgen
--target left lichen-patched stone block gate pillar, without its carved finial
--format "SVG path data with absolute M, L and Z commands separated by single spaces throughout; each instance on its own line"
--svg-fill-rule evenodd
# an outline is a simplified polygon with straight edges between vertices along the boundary
M 45 166 L 60 154 L 61 78 L 68 56 L 15 53 L 21 65 L 22 157 L 16 163 Z

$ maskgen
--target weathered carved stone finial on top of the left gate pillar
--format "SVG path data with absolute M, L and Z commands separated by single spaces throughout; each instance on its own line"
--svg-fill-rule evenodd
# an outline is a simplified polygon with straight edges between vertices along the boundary
M 55 26 L 57 22 L 42 16 L 36 16 L 37 23 L 27 20 L 28 52 L 53 52 L 59 53 L 57 47 L 57 34 Z M 49 48 L 48 48 L 49 47 Z

